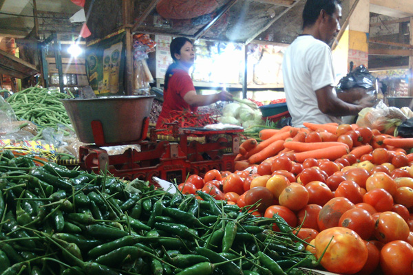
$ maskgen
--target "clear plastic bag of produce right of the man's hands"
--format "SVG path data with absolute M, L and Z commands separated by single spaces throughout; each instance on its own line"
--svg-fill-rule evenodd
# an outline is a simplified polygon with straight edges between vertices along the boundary
M 381 100 L 374 108 L 364 108 L 359 112 L 357 125 L 377 129 L 381 133 L 394 135 L 396 127 L 407 120 L 405 114 L 396 107 L 388 107 Z

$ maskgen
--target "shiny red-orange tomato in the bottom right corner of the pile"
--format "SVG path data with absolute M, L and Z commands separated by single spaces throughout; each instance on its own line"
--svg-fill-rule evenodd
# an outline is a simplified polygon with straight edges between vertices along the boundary
M 380 251 L 380 266 L 386 275 L 412 275 L 412 262 L 413 248 L 405 241 L 391 241 Z

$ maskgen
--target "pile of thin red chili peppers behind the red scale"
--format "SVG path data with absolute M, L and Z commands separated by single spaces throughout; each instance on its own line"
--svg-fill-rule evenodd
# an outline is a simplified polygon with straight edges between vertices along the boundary
M 218 118 L 218 115 L 211 115 L 210 113 L 192 112 L 188 110 L 171 111 L 170 118 L 165 119 L 161 124 L 161 128 L 165 129 L 165 131 L 160 131 L 158 132 L 158 134 L 171 135 L 172 127 L 171 125 L 167 125 L 167 124 L 173 123 L 176 121 L 178 122 L 178 125 L 180 128 L 203 127 L 208 124 L 218 123 L 217 118 Z

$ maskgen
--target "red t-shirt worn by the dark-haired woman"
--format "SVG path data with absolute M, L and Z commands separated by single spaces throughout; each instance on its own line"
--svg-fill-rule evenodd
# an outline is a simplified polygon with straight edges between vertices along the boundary
M 168 89 L 167 91 L 164 89 L 164 102 L 156 122 L 157 129 L 161 128 L 162 120 L 170 118 L 171 111 L 198 110 L 198 107 L 191 107 L 184 100 L 184 96 L 189 91 L 195 91 L 191 76 L 183 69 L 173 69 L 172 76 L 169 77 Z

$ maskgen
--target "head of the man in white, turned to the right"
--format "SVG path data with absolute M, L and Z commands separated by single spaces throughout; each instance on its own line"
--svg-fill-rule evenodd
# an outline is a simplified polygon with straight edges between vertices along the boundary
M 340 30 L 340 0 L 307 0 L 303 10 L 303 28 L 319 28 L 317 39 L 330 43 Z

